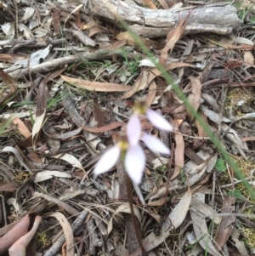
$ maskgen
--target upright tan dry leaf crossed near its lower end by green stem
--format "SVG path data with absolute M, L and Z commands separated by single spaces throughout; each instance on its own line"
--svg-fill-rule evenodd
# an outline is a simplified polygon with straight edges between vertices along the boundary
M 190 104 L 193 106 L 195 111 L 197 111 L 201 101 L 201 78 L 189 77 L 189 79 L 191 82 L 191 92 L 189 94 L 188 100 L 190 101 Z M 187 108 L 187 115 L 190 122 L 192 122 L 194 120 L 194 117 L 189 108 Z

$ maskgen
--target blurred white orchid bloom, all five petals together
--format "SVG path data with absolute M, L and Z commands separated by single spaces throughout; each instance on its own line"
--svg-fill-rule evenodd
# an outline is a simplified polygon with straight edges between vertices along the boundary
M 157 128 L 164 130 L 172 130 L 172 126 L 163 117 L 155 111 L 147 110 L 147 117 L 153 119 L 152 124 L 156 122 Z M 156 139 L 150 134 L 142 133 L 139 116 L 134 114 L 127 122 L 127 141 L 119 141 L 116 145 L 112 146 L 97 162 L 94 168 L 94 174 L 104 174 L 116 165 L 116 162 L 124 152 L 124 167 L 133 183 L 139 185 L 141 182 L 144 168 L 145 168 L 145 155 L 142 147 L 139 145 L 139 139 L 144 141 L 144 144 L 161 154 L 170 154 L 170 150 L 164 145 L 161 140 Z

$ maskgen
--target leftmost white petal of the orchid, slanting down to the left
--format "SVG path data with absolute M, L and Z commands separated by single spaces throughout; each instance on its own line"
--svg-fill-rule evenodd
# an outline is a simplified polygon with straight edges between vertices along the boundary
M 105 154 L 100 158 L 94 168 L 94 174 L 104 174 L 113 168 L 120 156 L 121 149 L 115 145 L 112 146 Z

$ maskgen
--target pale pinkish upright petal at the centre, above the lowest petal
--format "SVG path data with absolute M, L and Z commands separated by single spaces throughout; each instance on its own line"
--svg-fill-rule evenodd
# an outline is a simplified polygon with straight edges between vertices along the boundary
M 141 123 L 137 115 L 130 117 L 127 122 L 127 139 L 131 146 L 138 145 L 141 136 Z

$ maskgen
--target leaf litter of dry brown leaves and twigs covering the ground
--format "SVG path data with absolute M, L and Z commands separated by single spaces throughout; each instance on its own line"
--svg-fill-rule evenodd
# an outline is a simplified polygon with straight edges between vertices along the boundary
M 162 134 L 142 124 L 172 154 L 144 148 L 146 171 L 134 186 L 149 255 L 255 253 L 254 198 L 162 77 L 171 75 L 254 185 L 254 5 L 241 2 L 233 4 L 243 23 L 229 37 L 184 32 L 192 13 L 167 38 L 139 36 L 164 71 L 129 31 L 98 20 L 82 3 L 1 3 L 0 254 L 139 255 L 138 245 L 130 247 L 137 241 L 127 198 L 119 196 L 121 173 L 93 176 L 136 100 L 173 125 Z

